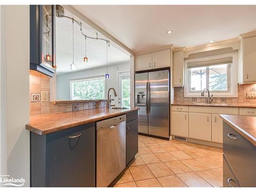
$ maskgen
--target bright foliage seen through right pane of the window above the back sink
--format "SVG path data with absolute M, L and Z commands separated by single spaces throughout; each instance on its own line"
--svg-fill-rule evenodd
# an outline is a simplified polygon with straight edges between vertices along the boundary
M 227 74 L 218 74 L 210 77 L 210 90 L 226 90 L 227 89 Z

